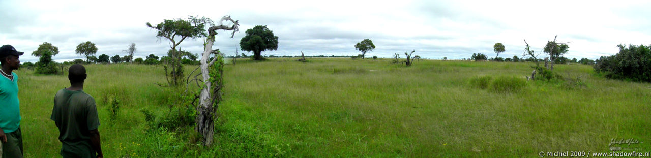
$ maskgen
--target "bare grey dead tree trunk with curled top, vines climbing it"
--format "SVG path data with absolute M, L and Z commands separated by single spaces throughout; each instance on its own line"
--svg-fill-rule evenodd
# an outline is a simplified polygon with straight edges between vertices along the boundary
M 222 25 L 222 21 L 229 20 L 233 22 L 232 27 L 227 27 Z M 224 16 L 219 20 L 219 25 L 210 27 L 208 29 L 208 39 L 206 40 L 206 45 L 204 47 L 204 52 L 201 56 L 201 76 L 203 78 L 204 86 L 201 89 L 201 94 L 199 96 L 199 106 L 197 106 L 197 125 L 195 126 L 195 131 L 201 133 L 204 146 L 210 146 L 212 143 L 212 137 L 214 133 L 214 114 L 215 109 L 219 106 L 219 101 L 221 99 L 221 88 L 223 88 L 223 55 L 219 53 L 219 49 L 213 50 L 212 44 L 215 42 L 215 31 L 217 30 L 232 30 L 233 33 L 230 36 L 232 38 L 235 33 L 238 31 L 238 21 L 232 20 L 230 16 Z M 208 58 L 211 54 L 214 54 L 212 61 L 208 62 Z M 215 63 L 217 62 L 217 63 Z M 210 66 L 219 66 L 214 72 L 215 69 L 212 68 L 213 73 L 211 74 Z

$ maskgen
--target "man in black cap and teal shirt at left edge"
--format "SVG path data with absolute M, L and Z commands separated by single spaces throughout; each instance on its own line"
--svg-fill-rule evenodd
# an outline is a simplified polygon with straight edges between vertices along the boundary
M 1 157 L 23 157 L 23 136 L 20 132 L 20 101 L 18 75 L 12 72 L 20 66 L 18 56 L 23 52 L 13 46 L 0 47 L 0 149 Z

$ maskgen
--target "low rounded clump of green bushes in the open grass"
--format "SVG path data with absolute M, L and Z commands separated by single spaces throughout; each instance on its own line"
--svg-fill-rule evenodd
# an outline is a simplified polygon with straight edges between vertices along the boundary
M 482 90 L 506 93 L 521 90 L 527 85 L 527 82 L 518 77 L 497 77 L 493 79 L 493 77 L 490 76 L 478 76 L 472 77 L 469 81 L 469 85 Z

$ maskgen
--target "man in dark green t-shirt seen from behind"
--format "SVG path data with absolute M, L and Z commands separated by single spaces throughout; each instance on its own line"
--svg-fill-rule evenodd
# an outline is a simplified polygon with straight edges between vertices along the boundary
M 68 70 L 70 87 L 54 96 L 50 119 L 59 127 L 59 141 L 63 157 L 104 157 L 100 145 L 100 119 L 95 99 L 83 92 L 86 68 L 74 64 Z M 97 153 L 97 155 L 95 154 Z

